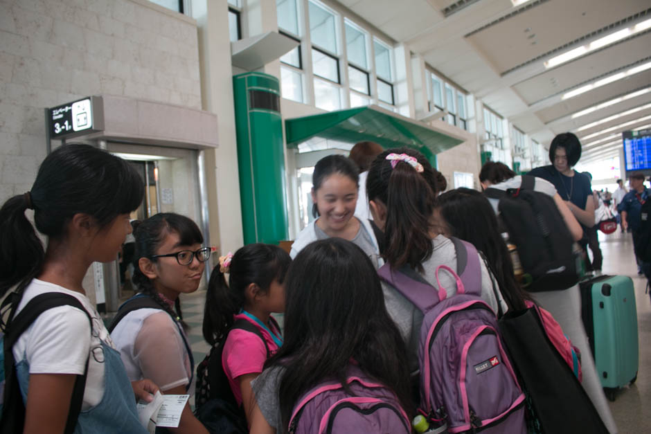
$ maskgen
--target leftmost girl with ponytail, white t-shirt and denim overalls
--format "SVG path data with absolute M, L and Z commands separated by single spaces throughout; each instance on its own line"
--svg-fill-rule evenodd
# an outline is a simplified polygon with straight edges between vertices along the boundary
M 131 233 L 130 213 L 142 198 L 143 182 L 126 161 L 71 144 L 49 154 L 31 190 L 0 209 L 0 297 L 17 285 L 3 302 L 3 314 L 9 311 L 2 327 L 5 338 L 19 324 L 12 320 L 21 318 L 23 309 L 33 309 L 29 302 L 35 298 L 67 298 L 78 306 L 43 311 L 10 354 L 4 353 L 15 361 L 23 402 L 5 400 L 1 431 L 146 433 L 136 415 L 134 391 L 151 400 L 148 392 L 157 388 L 151 381 L 130 384 L 83 287 L 93 262 L 116 259 Z M 47 237 L 45 248 L 26 217 L 28 209 L 38 232 Z M 78 381 L 84 373 L 85 383 Z M 83 386 L 81 402 L 78 384 Z M 24 427 L 20 420 L 7 428 L 8 416 L 17 417 L 7 414 L 8 406 L 23 403 Z

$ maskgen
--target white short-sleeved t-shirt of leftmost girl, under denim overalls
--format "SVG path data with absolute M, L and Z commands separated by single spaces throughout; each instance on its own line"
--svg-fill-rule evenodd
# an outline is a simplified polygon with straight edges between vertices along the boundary
M 16 363 L 26 360 L 30 374 L 83 374 L 89 361 L 82 410 L 96 406 L 104 396 L 104 352 L 101 344 L 115 348 L 100 315 L 86 296 L 57 284 L 34 279 L 26 287 L 17 313 L 42 293 L 61 292 L 77 298 L 93 318 L 72 306 L 48 309 L 39 315 L 13 347 Z M 89 356 L 90 355 L 90 356 Z

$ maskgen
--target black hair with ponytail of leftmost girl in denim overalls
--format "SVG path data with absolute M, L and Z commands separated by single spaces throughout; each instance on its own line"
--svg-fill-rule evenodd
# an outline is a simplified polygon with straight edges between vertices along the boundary
M 138 208 L 143 181 L 121 158 L 91 145 L 62 145 L 41 163 L 30 192 L 0 208 L 0 297 L 15 284 L 23 289 L 42 270 L 45 251 L 25 215 L 34 209 L 36 229 L 50 239 L 66 237 L 78 213 L 100 228 Z

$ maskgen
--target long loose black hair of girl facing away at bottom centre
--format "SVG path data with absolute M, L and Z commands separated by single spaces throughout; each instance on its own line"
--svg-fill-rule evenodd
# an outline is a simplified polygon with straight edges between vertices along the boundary
M 335 237 L 309 244 L 289 267 L 285 293 L 285 342 L 267 361 L 286 368 L 278 388 L 283 426 L 317 383 L 335 378 L 343 385 L 351 359 L 409 412 L 407 351 L 361 248 Z

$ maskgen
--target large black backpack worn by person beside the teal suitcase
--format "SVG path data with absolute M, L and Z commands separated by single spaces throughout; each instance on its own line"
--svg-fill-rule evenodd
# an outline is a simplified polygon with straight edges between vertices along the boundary
M 509 242 L 517 246 L 522 269 L 530 275 L 527 291 L 567 289 L 578 282 L 573 238 L 553 197 L 534 191 L 535 177 L 522 175 L 519 188 L 484 190 L 499 199 L 497 209 Z

